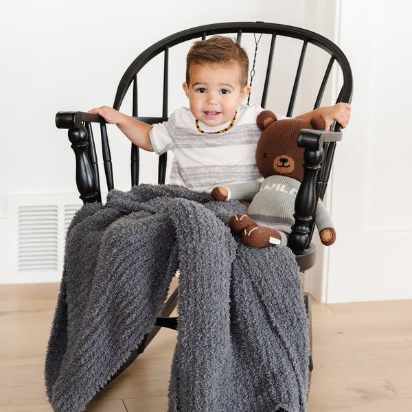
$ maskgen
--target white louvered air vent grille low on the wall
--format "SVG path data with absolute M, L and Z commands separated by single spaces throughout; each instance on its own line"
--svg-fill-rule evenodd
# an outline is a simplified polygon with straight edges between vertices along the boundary
M 0 283 L 59 282 L 67 227 L 80 207 L 77 194 L 8 196 L 8 259 Z

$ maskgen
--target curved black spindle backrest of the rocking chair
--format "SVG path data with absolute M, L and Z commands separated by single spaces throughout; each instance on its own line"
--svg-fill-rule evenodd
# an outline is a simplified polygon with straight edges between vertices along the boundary
M 298 58 L 296 59 L 297 66 L 295 70 L 290 70 L 290 67 L 286 68 L 288 71 L 287 75 L 291 76 L 290 81 L 290 93 L 289 95 L 282 96 L 282 98 L 287 100 L 287 111 L 286 115 L 289 117 L 293 116 L 293 110 L 295 108 L 295 103 L 299 96 L 299 87 L 301 84 L 304 84 L 302 79 L 302 73 L 304 73 L 304 62 L 307 58 L 308 54 L 310 54 L 310 47 L 312 47 L 312 60 L 316 59 L 316 69 L 319 66 L 324 64 L 324 67 L 321 67 L 318 71 L 321 70 L 321 73 L 317 73 L 317 78 L 319 78 L 319 84 L 317 85 L 316 90 L 313 91 L 312 96 L 312 107 L 308 108 L 307 111 L 311 110 L 312 108 L 317 108 L 321 106 L 322 98 L 325 95 L 325 90 L 327 89 L 328 83 L 330 84 L 333 82 L 333 78 L 339 78 L 341 87 L 339 91 L 336 92 L 336 102 L 350 102 L 352 97 L 352 72 L 350 69 L 350 65 L 347 62 L 347 58 L 332 41 L 329 41 L 327 38 L 320 36 L 317 33 L 310 32 L 308 30 L 301 29 L 299 27 L 291 27 L 288 25 L 279 25 L 275 23 L 263 23 L 263 22 L 243 22 L 243 23 L 217 23 L 211 25 L 203 25 L 200 27 L 194 27 L 189 30 L 184 30 L 183 32 L 179 32 L 176 34 L 172 34 L 164 38 L 163 40 L 155 43 L 151 47 L 148 47 L 144 52 L 142 52 L 135 60 L 131 63 L 128 67 L 126 72 L 124 73 L 122 79 L 119 82 L 119 86 L 117 88 L 117 93 L 115 95 L 115 101 L 113 107 L 117 110 L 121 110 L 122 103 L 124 102 L 124 98 L 126 93 L 132 94 L 132 113 L 133 117 L 137 117 L 144 122 L 148 122 L 150 124 L 163 122 L 168 119 L 168 114 L 170 110 L 170 55 L 172 54 L 172 48 L 176 47 L 177 45 L 181 45 L 182 43 L 188 43 L 187 47 L 192 45 L 193 41 L 198 39 L 204 39 L 207 36 L 222 34 L 222 35 L 234 35 L 242 44 L 244 42 L 244 37 L 247 34 L 251 34 L 254 36 L 255 44 L 253 46 L 255 52 L 254 56 L 249 56 L 251 60 L 251 81 L 253 81 L 254 75 L 258 72 L 259 76 L 262 81 L 262 87 L 253 87 L 253 97 L 257 98 L 257 93 L 260 93 L 260 105 L 262 107 L 266 107 L 268 102 L 268 95 L 269 90 L 277 90 L 279 89 L 279 82 L 284 83 L 284 78 L 280 78 L 279 71 L 282 71 L 282 62 L 276 61 L 275 57 L 276 54 L 276 45 L 279 43 L 280 38 L 291 38 L 294 39 L 295 44 L 293 49 L 299 49 Z M 261 38 L 264 36 L 265 41 L 262 41 Z M 299 41 L 301 45 L 296 47 L 296 43 Z M 286 45 L 288 47 L 287 54 L 290 53 L 290 45 Z M 319 49 L 323 51 L 326 58 L 321 58 L 320 54 L 315 54 L 313 49 Z M 148 116 L 144 113 L 144 108 L 140 109 L 138 107 L 139 102 L 139 73 L 148 63 L 155 59 L 159 59 L 159 55 L 163 55 L 163 79 L 159 79 L 159 82 L 163 83 L 163 93 L 161 96 L 161 102 L 159 102 L 159 114 L 157 116 Z M 256 67 L 256 56 L 264 56 L 264 67 Z M 282 60 L 284 60 L 284 55 L 281 55 Z M 310 57 L 309 57 L 310 59 Z M 330 76 L 333 72 L 334 68 L 338 67 L 341 73 L 337 74 L 336 76 Z M 313 70 L 313 69 L 312 69 Z M 277 76 L 277 78 L 276 78 Z M 278 84 L 276 82 L 278 81 Z M 336 85 L 334 86 L 335 89 L 338 89 Z M 305 100 L 308 100 L 307 91 L 306 89 L 304 92 Z M 283 92 L 283 94 L 285 94 Z M 330 104 L 331 102 L 328 102 Z M 144 104 L 140 104 L 140 106 L 144 106 Z M 271 110 L 279 112 L 279 109 L 270 107 Z M 174 108 L 171 108 L 174 109 Z M 334 125 L 333 130 L 340 130 L 341 126 L 339 124 Z M 106 171 L 106 183 L 108 185 L 108 190 L 113 188 L 113 172 L 111 171 L 111 157 L 110 157 L 110 149 L 108 144 L 108 139 L 106 138 L 106 132 L 103 127 L 103 151 L 106 152 L 104 154 L 104 167 Z M 91 141 L 93 145 L 93 140 Z M 91 148 L 91 152 L 93 152 L 93 148 Z M 323 161 L 321 170 L 318 173 L 318 192 L 319 196 L 323 198 L 323 194 L 325 193 L 325 187 L 328 183 L 330 168 L 332 165 L 332 159 L 334 155 L 334 144 L 325 144 L 324 147 L 324 156 L 325 159 Z M 158 181 L 159 183 L 165 182 L 165 172 L 166 172 L 166 161 L 167 155 L 161 155 L 159 157 L 159 175 Z M 97 165 L 96 165 L 97 167 Z M 132 145 L 131 151 L 131 183 L 132 185 L 137 185 L 139 183 L 139 149 Z

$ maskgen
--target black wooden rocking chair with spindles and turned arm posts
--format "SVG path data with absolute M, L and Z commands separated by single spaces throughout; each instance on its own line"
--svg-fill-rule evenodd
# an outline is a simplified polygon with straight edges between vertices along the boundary
M 319 82 L 316 89 L 313 90 L 312 106 L 306 108 L 306 111 L 312 108 L 321 106 L 322 99 L 325 94 L 332 96 L 332 90 L 336 89 L 337 93 L 334 102 L 348 102 L 352 98 L 352 73 L 347 58 L 332 41 L 320 36 L 314 32 L 309 32 L 298 27 L 290 27 L 274 23 L 263 22 L 247 22 L 247 23 L 218 23 L 211 25 L 203 25 L 194 27 L 189 30 L 184 30 L 176 34 L 172 34 L 167 38 L 155 43 L 142 52 L 128 67 L 124 76 L 119 82 L 117 93 L 113 107 L 117 110 L 122 108 L 126 112 L 122 103 L 126 95 L 131 97 L 131 113 L 133 117 L 140 119 L 149 124 L 163 122 L 168 119 L 169 100 L 170 100 L 170 62 L 174 48 L 183 44 L 191 45 L 194 39 L 204 39 L 207 36 L 215 34 L 224 34 L 229 36 L 237 36 L 238 41 L 250 41 L 253 45 L 254 55 L 251 56 L 253 67 L 251 70 L 251 81 L 253 84 L 252 97 L 255 98 L 260 94 L 262 107 L 266 107 L 269 97 L 269 91 L 274 90 L 278 94 L 279 82 L 284 86 L 283 78 L 279 78 L 278 73 L 288 74 L 290 78 L 290 91 L 282 99 L 287 106 L 286 115 L 293 116 L 293 110 L 301 96 L 306 66 L 304 62 L 309 60 L 312 62 L 311 67 L 315 67 L 316 77 Z M 282 47 L 282 41 L 288 45 L 288 52 L 292 48 L 297 49 L 297 68 L 290 73 L 290 69 L 284 69 L 282 72 L 282 63 L 284 58 L 276 60 L 277 46 Z M 293 47 L 289 48 L 289 44 Z M 189 47 L 187 46 L 187 47 Z M 312 58 L 308 57 L 312 54 Z M 321 56 L 323 54 L 323 56 Z M 163 58 L 159 58 L 163 56 Z M 258 60 L 262 60 L 264 68 L 258 68 Z M 154 61 L 160 62 L 163 71 L 163 93 L 161 102 L 159 102 L 159 114 L 156 117 L 150 117 L 145 113 L 146 105 L 140 102 L 139 96 L 139 74 L 141 70 L 148 64 Z M 321 67 L 321 72 L 319 72 Z M 287 71 L 287 73 L 285 73 Z M 339 72 L 339 73 L 338 73 Z M 254 77 L 254 74 L 256 77 Z M 333 74 L 333 76 L 332 76 Z M 182 73 L 183 76 L 183 73 Z M 258 77 L 260 76 L 261 85 L 256 86 Z M 338 80 L 336 80 L 338 79 Z M 313 86 L 315 80 L 310 81 L 310 87 Z M 332 86 L 331 86 L 332 83 Z M 307 100 L 308 90 L 304 89 L 305 100 Z M 138 102 L 142 106 L 142 110 L 138 110 Z M 332 104 L 328 101 L 327 105 Z M 325 105 L 325 104 L 323 104 Z M 273 111 L 282 113 L 279 108 L 273 108 Z M 98 161 L 93 140 L 92 123 L 100 124 L 102 137 L 102 157 L 104 160 L 104 172 L 106 176 L 106 184 L 108 190 L 113 189 L 113 170 L 111 163 L 111 152 L 109 149 L 109 141 L 106 132 L 104 119 L 99 115 L 84 113 L 81 111 L 59 112 L 56 115 L 56 125 L 58 128 L 68 129 L 69 140 L 71 147 L 76 155 L 76 181 L 80 198 L 84 203 L 101 202 L 102 195 L 100 190 L 100 173 L 98 169 Z M 331 131 L 320 130 L 302 130 L 299 136 L 299 146 L 305 148 L 304 154 L 304 180 L 301 183 L 300 190 L 297 194 L 295 204 L 295 225 L 292 227 L 292 232 L 289 238 L 289 247 L 296 255 L 297 262 L 301 271 L 306 271 L 316 262 L 317 248 L 311 242 L 313 225 L 312 216 L 317 206 L 319 198 L 323 198 L 330 170 L 332 168 L 332 160 L 336 141 L 342 139 L 341 125 L 335 123 Z M 159 172 L 158 182 L 165 183 L 167 155 L 159 157 Z M 139 149 L 132 145 L 131 149 L 131 185 L 139 184 Z M 305 297 L 308 317 L 310 318 L 310 296 Z M 150 332 L 144 342 L 133 352 L 129 360 L 117 371 L 117 376 L 123 371 L 139 353 L 143 352 L 144 348 L 155 336 L 159 328 L 167 327 L 176 329 L 177 319 L 169 317 L 177 302 L 177 288 L 174 290 L 157 319 L 155 328 Z M 311 326 L 310 326 L 311 328 Z M 311 336 L 311 331 L 310 331 Z M 310 362 L 310 370 L 312 370 L 312 362 Z

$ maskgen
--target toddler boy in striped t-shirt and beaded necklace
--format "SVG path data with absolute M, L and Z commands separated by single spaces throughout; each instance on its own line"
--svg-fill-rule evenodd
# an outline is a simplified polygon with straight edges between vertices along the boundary
M 244 49 L 231 38 L 213 36 L 194 43 L 187 54 L 183 90 L 190 108 L 177 109 L 168 122 L 150 126 L 108 106 L 90 112 L 116 124 L 139 148 L 159 155 L 172 150 L 170 183 L 199 191 L 222 185 L 231 198 L 250 200 L 260 186 L 255 148 L 262 132 L 256 118 L 263 108 L 242 104 L 251 92 L 248 72 Z M 298 117 L 310 120 L 314 115 L 323 117 L 327 130 L 334 121 L 345 127 L 350 105 L 339 103 Z

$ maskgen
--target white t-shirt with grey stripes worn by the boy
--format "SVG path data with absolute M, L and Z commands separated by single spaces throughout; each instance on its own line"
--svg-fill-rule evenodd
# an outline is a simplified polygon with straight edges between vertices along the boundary
M 256 117 L 262 110 L 257 105 L 238 105 L 236 122 L 217 135 L 200 133 L 194 115 L 185 107 L 174 111 L 168 122 L 153 125 L 150 140 L 155 152 L 172 150 L 174 154 L 170 183 L 208 191 L 216 185 L 260 179 L 255 150 L 262 134 Z M 199 127 L 214 132 L 229 124 L 209 128 L 199 122 Z

